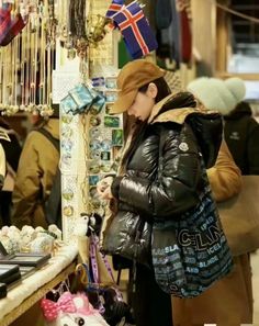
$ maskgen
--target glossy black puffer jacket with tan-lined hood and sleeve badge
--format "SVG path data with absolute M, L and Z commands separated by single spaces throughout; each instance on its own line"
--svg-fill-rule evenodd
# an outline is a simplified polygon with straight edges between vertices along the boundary
M 155 105 L 124 176 L 112 184 L 119 211 L 135 212 L 153 221 L 179 216 L 199 202 L 204 182 L 207 183 L 202 179 L 202 155 L 206 167 L 214 165 L 222 139 L 222 119 L 217 113 L 185 108 L 190 98 L 193 99 L 190 93 L 179 93 Z

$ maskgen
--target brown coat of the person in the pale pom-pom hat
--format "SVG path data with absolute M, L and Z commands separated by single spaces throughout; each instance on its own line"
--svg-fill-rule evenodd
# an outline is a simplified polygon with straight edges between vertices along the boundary
M 240 171 L 223 144 L 216 165 L 207 171 L 216 201 L 238 193 Z M 217 324 L 239 326 L 252 323 L 252 288 L 249 255 L 234 258 L 234 271 L 194 299 L 172 297 L 173 326 Z

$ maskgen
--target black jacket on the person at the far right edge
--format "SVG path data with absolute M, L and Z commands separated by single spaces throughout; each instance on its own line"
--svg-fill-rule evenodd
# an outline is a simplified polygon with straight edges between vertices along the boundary
M 259 124 L 251 108 L 240 102 L 225 116 L 225 140 L 243 175 L 259 175 Z

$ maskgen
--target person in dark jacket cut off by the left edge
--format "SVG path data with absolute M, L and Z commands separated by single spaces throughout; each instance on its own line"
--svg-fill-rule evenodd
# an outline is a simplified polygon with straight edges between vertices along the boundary
M 11 225 L 12 191 L 22 146 L 19 135 L 2 117 L 0 117 L 0 130 L 8 135 L 8 138 L 0 136 L 7 160 L 7 176 L 0 192 L 0 225 Z

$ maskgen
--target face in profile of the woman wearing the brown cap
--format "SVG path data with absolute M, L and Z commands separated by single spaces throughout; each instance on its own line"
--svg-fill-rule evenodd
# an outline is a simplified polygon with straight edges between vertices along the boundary
M 155 104 L 156 94 L 157 89 L 154 92 L 154 89 L 151 89 L 150 87 L 148 87 L 145 93 L 137 92 L 132 106 L 130 106 L 127 110 L 127 114 L 134 115 L 140 121 L 146 121 L 151 113 L 153 106 Z

